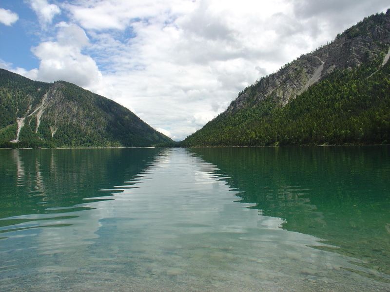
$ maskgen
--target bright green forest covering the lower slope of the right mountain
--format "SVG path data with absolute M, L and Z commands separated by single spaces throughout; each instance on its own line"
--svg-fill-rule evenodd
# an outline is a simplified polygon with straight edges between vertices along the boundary
M 334 72 L 284 107 L 271 95 L 222 113 L 182 145 L 389 144 L 390 63 L 378 62 Z

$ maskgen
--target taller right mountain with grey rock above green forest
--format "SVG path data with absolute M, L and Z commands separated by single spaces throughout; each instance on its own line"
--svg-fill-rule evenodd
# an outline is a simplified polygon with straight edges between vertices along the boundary
M 390 144 L 390 9 L 241 91 L 182 146 Z

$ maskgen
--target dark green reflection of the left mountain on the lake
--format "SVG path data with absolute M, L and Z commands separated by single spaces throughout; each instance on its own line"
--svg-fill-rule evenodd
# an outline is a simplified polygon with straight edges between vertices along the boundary
M 122 184 L 137 175 L 159 151 L 1 150 L 0 218 L 58 213 L 50 207 L 83 203 L 86 198 L 97 197 L 98 189 Z

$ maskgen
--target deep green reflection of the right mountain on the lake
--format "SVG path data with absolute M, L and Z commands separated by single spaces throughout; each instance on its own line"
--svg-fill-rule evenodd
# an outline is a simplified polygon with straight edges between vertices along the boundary
M 390 274 L 390 147 L 192 150 L 215 164 L 241 202 L 310 234 L 359 265 Z M 370 275 L 373 276 L 373 275 Z

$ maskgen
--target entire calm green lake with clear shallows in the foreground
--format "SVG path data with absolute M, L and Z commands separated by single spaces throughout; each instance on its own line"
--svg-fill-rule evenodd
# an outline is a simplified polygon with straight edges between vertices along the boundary
M 1 150 L 0 291 L 390 291 L 390 147 Z

